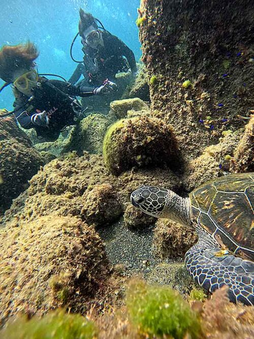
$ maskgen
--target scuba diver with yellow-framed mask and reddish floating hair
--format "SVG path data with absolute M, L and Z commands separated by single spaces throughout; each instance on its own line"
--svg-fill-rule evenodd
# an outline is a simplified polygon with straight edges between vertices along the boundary
M 0 50 L 1 90 L 13 84 L 15 117 L 24 129 L 34 128 L 38 138 L 55 141 L 67 126 L 84 117 L 78 97 L 107 94 L 116 85 L 108 80 L 99 87 L 74 86 L 66 81 L 49 80 L 35 70 L 39 52 L 33 43 L 4 46 Z M 0 91 L 1 91 L 0 90 Z

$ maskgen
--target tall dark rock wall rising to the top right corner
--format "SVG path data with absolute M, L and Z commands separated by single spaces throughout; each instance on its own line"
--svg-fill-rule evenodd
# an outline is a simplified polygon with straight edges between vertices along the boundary
M 252 2 L 141 2 L 142 60 L 151 110 L 175 129 L 185 160 L 217 143 L 221 131 L 243 127 L 252 104 Z M 184 88 L 182 84 L 189 80 Z M 209 124 L 204 121 L 210 118 Z

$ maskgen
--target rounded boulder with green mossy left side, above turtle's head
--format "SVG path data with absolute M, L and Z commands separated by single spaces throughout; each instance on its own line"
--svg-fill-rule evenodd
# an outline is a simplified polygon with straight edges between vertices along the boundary
M 172 128 L 147 116 L 117 121 L 103 143 L 105 164 L 116 175 L 134 166 L 179 168 L 177 150 Z

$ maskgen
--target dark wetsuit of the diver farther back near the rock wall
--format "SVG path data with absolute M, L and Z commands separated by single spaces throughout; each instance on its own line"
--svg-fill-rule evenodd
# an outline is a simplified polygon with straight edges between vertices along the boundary
M 92 60 L 97 58 L 99 66 L 98 74 L 94 77 L 90 77 L 89 70 L 87 70 L 83 64 L 79 64 L 69 79 L 70 83 L 75 84 L 82 74 L 85 78 L 85 82 L 94 86 L 98 86 L 105 79 L 114 81 L 116 73 L 126 71 L 126 64 L 124 64 L 123 56 L 128 60 L 132 73 L 137 71 L 133 51 L 120 39 L 109 32 L 101 31 L 101 33 L 104 46 L 100 46 L 98 51 L 89 46 L 82 48 L 84 54 L 88 54 Z

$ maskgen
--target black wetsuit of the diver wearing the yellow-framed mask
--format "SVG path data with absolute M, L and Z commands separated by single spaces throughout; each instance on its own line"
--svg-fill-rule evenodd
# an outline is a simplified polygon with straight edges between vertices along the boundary
M 79 87 L 59 80 L 39 79 L 40 86 L 33 90 L 31 98 L 20 93 L 13 104 L 15 117 L 24 129 L 34 128 L 38 138 L 54 141 L 66 126 L 77 124 L 77 113 L 82 109 L 73 102 L 75 96 L 89 97 L 93 87 Z M 31 116 L 46 111 L 49 116 L 47 127 L 32 124 Z

